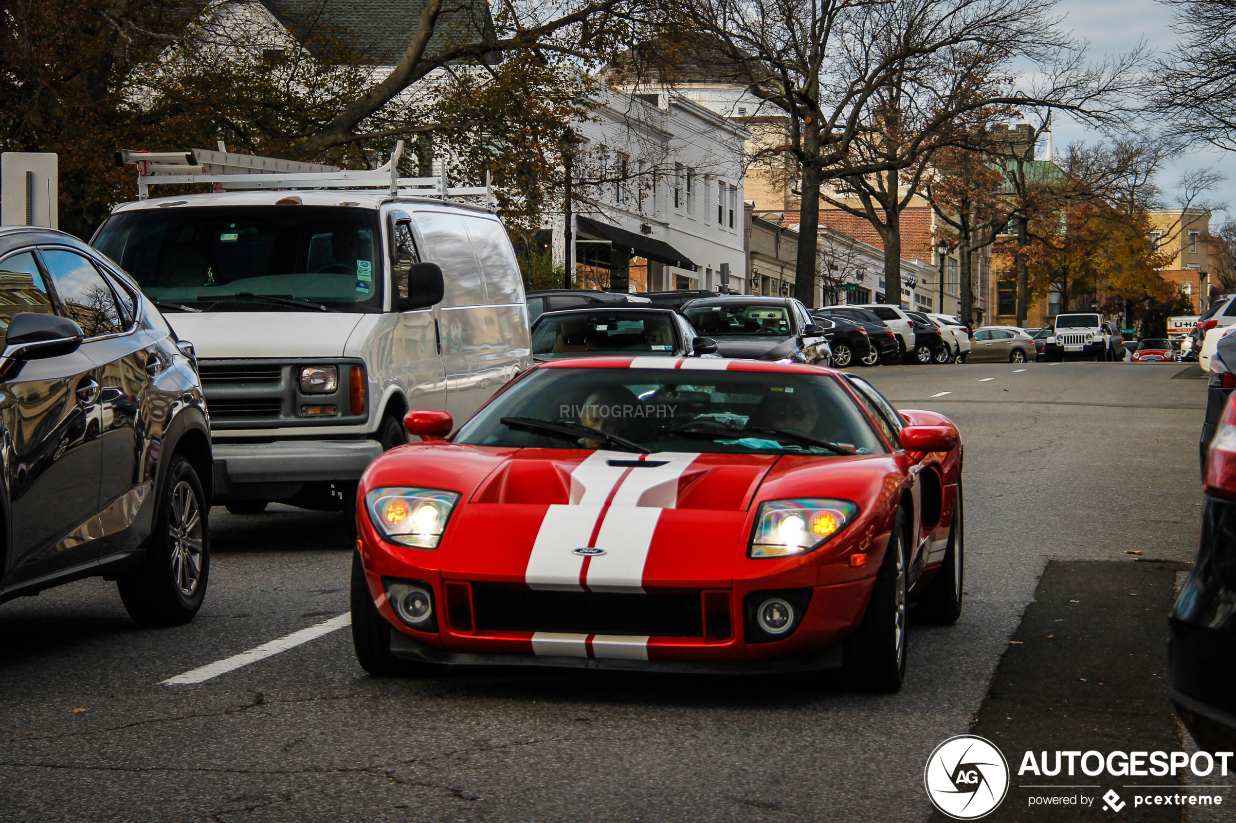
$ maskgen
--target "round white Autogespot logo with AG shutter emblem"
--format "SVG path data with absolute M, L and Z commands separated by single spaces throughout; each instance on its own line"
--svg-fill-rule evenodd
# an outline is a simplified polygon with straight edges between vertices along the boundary
M 927 758 L 923 785 L 941 812 L 974 821 L 994 812 L 1009 793 L 1009 761 L 990 740 L 958 734 Z

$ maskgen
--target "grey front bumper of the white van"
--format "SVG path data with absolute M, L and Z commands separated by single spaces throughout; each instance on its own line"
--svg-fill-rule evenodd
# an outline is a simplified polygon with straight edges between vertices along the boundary
M 215 490 L 237 484 L 358 480 L 379 454 L 377 440 L 277 440 L 214 445 Z

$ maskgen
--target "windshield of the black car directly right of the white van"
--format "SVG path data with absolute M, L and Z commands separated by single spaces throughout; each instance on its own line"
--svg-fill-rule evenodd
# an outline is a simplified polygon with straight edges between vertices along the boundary
M 533 354 L 564 358 L 614 352 L 674 354 L 674 326 L 667 315 L 597 311 L 544 316 L 533 328 Z

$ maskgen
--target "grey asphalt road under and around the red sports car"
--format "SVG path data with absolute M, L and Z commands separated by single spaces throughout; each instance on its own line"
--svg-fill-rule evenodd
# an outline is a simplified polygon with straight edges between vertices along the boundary
M 953 417 L 965 443 L 965 614 L 912 628 L 900 693 L 808 676 L 510 669 L 377 680 L 356 665 L 346 629 L 198 685 L 162 685 L 347 610 L 336 516 L 216 508 L 210 591 L 189 626 L 138 628 L 98 580 L 0 606 L 0 819 L 931 819 L 922 774 L 938 743 L 975 722 L 1037 739 L 1057 712 L 1043 690 L 1063 677 L 1021 695 L 1021 724 L 1006 713 L 995 729 L 1009 705 L 989 697 L 1009 649 L 1018 658 L 1000 676 L 1054 665 L 1010 644 L 1048 563 L 1063 576 L 1044 577 L 1042 602 L 1074 584 L 1106 602 L 1124 576 L 1154 565 L 1137 560 L 1192 558 L 1205 381 L 1173 379 L 1179 366 L 1101 363 L 859 371 L 901 407 Z M 1187 568 L 1162 566 L 1154 606 L 1128 612 L 1142 645 L 1166 645 L 1159 577 Z M 1030 612 L 1023 631 L 1041 634 L 1052 608 Z M 1077 618 L 1093 631 L 1063 659 L 1120 633 L 1099 619 L 1106 611 Z M 1132 726 L 1154 739 L 1177 734 L 1143 682 L 1162 653 L 1111 666 L 1114 689 L 1142 672 L 1121 718 L 1137 714 Z M 1110 748 L 1086 737 L 1101 703 L 1051 718 L 1052 733 Z M 1014 800 L 1025 803 L 1011 792 L 988 819 L 1020 819 Z

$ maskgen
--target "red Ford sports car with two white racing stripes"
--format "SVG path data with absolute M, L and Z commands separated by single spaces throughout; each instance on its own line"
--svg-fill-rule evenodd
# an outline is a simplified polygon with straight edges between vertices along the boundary
M 352 634 L 372 674 L 444 664 L 844 668 L 896 691 L 906 618 L 962 611 L 962 445 L 866 381 L 755 360 L 524 373 L 454 437 L 375 460 Z

